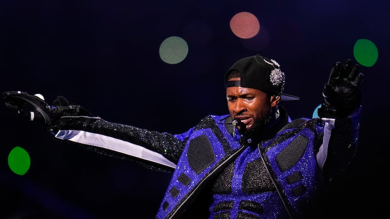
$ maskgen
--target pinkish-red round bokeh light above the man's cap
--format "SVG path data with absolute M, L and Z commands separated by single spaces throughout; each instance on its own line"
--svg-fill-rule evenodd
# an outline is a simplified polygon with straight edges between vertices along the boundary
M 248 39 L 259 32 L 260 23 L 253 14 L 240 12 L 230 20 L 230 28 L 237 37 Z

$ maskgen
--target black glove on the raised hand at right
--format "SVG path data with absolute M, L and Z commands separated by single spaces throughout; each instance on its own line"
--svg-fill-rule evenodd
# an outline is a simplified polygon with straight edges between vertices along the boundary
M 351 64 L 351 59 L 334 63 L 322 92 L 323 103 L 317 111 L 320 118 L 345 118 L 359 108 L 359 87 L 364 77 L 359 69 L 358 64 Z

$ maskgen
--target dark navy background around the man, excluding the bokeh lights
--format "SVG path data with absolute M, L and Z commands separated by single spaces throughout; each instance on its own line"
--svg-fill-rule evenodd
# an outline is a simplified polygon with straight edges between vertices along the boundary
M 331 65 L 351 58 L 356 40 L 379 56 L 365 81 L 359 150 L 324 211 L 346 218 L 386 213 L 389 124 L 389 3 L 327 1 L 0 0 L 0 90 L 57 95 L 111 122 L 182 133 L 207 114 L 226 114 L 223 74 L 237 59 L 261 54 L 286 73 L 292 118 L 312 117 Z M 230 19 L 251 12 L 268 43 L 231 32 Z M 167 37 L 184 38 L 186 59 L 159 58 Z M 44 128 L 17 122 L 0 107 L 0 218 L 154 218 L 171 174 L 53 141 Z M 12 148 L 31 157 L 19 176 Z M 385 160 L 386 159 L 386 160 Z M 318 215 L 320 217 L 320 215 Z

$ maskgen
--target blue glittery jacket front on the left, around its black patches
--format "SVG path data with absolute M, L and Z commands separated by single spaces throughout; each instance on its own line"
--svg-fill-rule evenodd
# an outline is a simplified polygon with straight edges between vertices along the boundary
M 191 204 L 191 202 L 188 201 L 191 200 L 192 197 L 195 197 L 198 189 L 202 187 L 201 184 L 209 183 L 211 180 L 214 180 L 216 174 L 222 171 L 227 164 L 232 162 L 236 152 L 239 152 L 244 148 L 234 140 L 231 133 L 227 132 L 225 125 L 218 123 L 218 121 L 225 117 L 227 116 L 208 116 L 194 128 L 194 131 L 188 138 L 188 143 L 183 150 L 182 156 L 177 163 L 178 168 L 176 168 L 167 189 L 167 191 L 169 191 L 175 187 L 180 191 L 180 194 L 176 198 L 169 192 L 165 194 L 157 213 L 157 218 L 179 217 L 180 212 Z M 194 146 L 192 141 L 196 141 L 199 136 L 207 136 L 207 139 L 209 139 L 210 144 L 213 146 L 215 155 L 214 162 L 204 168 L 202 172 L 195 171 L 188 161 L 188 157 L 190 156 L 189 153 L 195 151 L 191 149 L 191 146 Z M 199 156 L 198 160 L 204 158 L 205 157 L 203 156 Z M 182 173 L 186 174 L 192 180 L 188 186 L 183 185 L 177 180 Z

